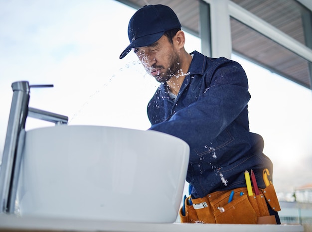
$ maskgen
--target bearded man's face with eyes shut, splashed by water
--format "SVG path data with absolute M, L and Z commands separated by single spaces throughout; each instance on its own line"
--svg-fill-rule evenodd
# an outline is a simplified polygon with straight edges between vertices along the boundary
M 180 70 L 179 55 L 174 45 L 163 35 L 155 43 L 134 49 L 147 72 L 158 82 L 177 76 Z

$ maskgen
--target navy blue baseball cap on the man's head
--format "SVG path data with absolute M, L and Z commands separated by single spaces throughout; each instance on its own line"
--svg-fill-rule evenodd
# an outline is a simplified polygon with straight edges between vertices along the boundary
M 143 6 L 129 21 L 130 44 L 119 58 L 124 58 L 132 48 L 155 43 L 165 31 L 175 28 L 181 28 L 181 23 L 170 7 L 160 4 Z

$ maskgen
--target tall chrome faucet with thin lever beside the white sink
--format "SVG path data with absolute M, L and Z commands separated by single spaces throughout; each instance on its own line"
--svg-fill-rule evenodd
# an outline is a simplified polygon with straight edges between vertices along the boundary
M 27 81 L 12 83 L 13 97 L 0 169 L 0 213 L 14 213 L 17 182 L 25 141 L 26 117 L 55 124 L 67 124 L 68 117 L 28 107 L 30 88 L 53 85 L 29 85 Z

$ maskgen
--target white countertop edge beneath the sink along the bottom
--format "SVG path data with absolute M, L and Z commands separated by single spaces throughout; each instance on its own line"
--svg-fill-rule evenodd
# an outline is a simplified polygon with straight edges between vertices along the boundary
M 304 232 L 301 225 L 154 224 L 0 215 L 0 232 Z

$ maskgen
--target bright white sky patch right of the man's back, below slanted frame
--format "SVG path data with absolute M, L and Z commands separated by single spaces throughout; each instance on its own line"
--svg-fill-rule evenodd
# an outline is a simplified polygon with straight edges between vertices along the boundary
M 238 55 L 233 54 L 232 59 L 247 73 L 250 131 L 264 138 L 264 153 L 273 162 L 280 200 L 292 201 L 295 188 L 312 179 L 311 90 Z

